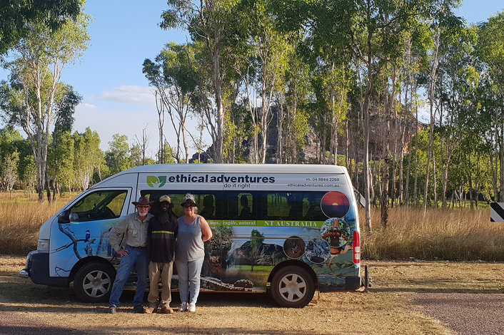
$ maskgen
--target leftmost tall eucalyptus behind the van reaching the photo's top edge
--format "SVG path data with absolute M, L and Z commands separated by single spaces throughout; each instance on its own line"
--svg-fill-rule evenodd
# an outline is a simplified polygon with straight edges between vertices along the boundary
M 193 41 L 201 41 L 206 49 L 206 64 L 211 78 L 213 100 L 206 104 L 208 116 L 215 118 L 215 132 L 211 133 L 213 159 L 223 158 L 226 74 L 232 61 L 230 43 L 236 41 L 236 0 L 168 0 L 168 9 L 161 15 L 161 28 L 183 28 Z M 210 113 L 211 112 L 211 113 Z

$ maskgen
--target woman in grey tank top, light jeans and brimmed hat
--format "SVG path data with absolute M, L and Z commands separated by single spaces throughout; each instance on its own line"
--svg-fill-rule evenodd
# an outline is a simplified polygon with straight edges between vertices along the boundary
M 196 311 L 201 267 L 205 258 L 203 242 L 211 239 L 212 231 L 205 218 L 196 214 L 198 208 L 193 195 L 186 194 L 181 206 L 183 216 L 178 218 L 175 249 L 178 294 L 181 299 L 180 311 Z

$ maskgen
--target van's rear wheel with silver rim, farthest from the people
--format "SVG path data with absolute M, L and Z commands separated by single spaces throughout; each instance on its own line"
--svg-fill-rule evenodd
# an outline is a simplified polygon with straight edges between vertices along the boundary
M 280 269 L 271 281 L 271 295 L 283 307 L 301 308 L 310 303 L 315 294 L 311 275 L 301 267 L 290 265 Z

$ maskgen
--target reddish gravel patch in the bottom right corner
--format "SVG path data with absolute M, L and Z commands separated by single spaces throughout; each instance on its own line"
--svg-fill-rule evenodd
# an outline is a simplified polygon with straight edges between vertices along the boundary
M 504 294 L 415 293 L 412 299 L 459 334 L 504 334 Z

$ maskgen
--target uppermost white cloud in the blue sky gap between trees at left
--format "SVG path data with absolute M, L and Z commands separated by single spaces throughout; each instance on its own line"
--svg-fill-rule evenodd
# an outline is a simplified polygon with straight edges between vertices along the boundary
M 136 105 L 156 105 L 150 87 L 146 86 L 119 86 L 109 91 L 101 92 L 89 98 L 111 100 L 116 103 L 134 103 Z

